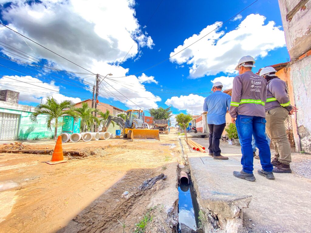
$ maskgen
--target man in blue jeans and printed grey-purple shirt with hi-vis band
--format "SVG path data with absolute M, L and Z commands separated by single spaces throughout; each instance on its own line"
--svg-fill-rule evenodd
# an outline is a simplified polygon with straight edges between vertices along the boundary
M 265 136 L 267 98 L 267 81 L 252 72 L 255 60 L 251 56 L 242 57 L 235 70 L 239 75 L 233 80 L 230 115 L 236 123 L 239 138 L 242 141 L 241 171 L 234 171 L 235 177 L 255 181 L 253 174 L 252 135 L 259 149 L 262 169 L 258 174 L 269 180 L 274 180 L 272 173 L 270 148 Z M 235 120 L 236 118 L 236 120 Z

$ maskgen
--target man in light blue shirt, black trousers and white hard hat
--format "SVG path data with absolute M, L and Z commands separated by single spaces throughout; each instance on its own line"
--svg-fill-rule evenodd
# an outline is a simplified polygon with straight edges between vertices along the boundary
M 207 112 L 209 133 L 209 155 L 214 159 L 227 160 L 221 155 L 219 148 L 220 138 L 226 126 L 226 112 L 230 109 L 231 96 L 223 93 L 221 82 L 215 82 L 211 89 L 212 94 L 204 100 L 203 111 Z

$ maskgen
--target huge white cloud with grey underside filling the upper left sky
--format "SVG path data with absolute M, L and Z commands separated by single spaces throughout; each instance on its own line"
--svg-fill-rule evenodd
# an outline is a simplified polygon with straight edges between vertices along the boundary
M 142 80 L 136 76 L 109 80 L 112 77 L 128 75 L 129 69 L 120 66 L 125 56 L 124 61 L 135 58 L 138 50 L 141 51 L 139 47 L 151 49 L 154 45 L 151 36 L 147 35 L 147 32 L 142 33 L 142 27 L 135 17 L 135 1 L 1 0 L 0 4 L 7 2 L 12 4 L 3 8 L 1 14 L 8 27 L 93 73 L 101 75 L 112 73 L 113 76 L 108 76 L 100 87 L 100 96 L 107 98 L 108 102 L 112 101 L 114 104 L 115 101 L 120 101 L 127 107 L 134 108 L 138 108 L 137 105 L 145 109 L 158 107 L 160 97 L 146 91 Z M 135 43 L 137 36 L 139 38 Z M 7 28 L 0 27 L 0 37 L 3 42 L 37 59 L 46 59 L 49 64 L 61 70 L 87 72 Z M 1 52 L 12 56 L 4 50 Z M 76 76 L 82 78 L 81 86 L 85 84 L 92 89 L 95 76 L 88 78 L 83 78 L 87 75 Z M 147 77 L 144 82 L 157 83 L 151 77 Z M 55 82 L 57 84 L 56 80 Z M 54 96 L 56 95 L 53 94 Z M 21 96 L 24 97 L 25 100 L 36 103 L 39 98 Z

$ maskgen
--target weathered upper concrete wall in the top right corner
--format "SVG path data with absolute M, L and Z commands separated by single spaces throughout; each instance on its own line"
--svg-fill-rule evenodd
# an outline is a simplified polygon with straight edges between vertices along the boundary
M 279 0 L 283 28 L 291 60 L 311 48 L 311 1 Z

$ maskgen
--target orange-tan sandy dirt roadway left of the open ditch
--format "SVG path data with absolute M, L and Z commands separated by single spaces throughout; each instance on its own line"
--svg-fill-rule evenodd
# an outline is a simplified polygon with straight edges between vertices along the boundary
M 117 219 L 125 221 L 125 232 L 132 232 L 147 208 L 176 202 L 179 140 L 174 130 L 160 139 L 66 143 L 63 150 L 90 156 L 57 165 L 45 163 L 50 155 L 0 154 L 0 232 L 121 232 Z M 55 142 L 23 144 L 23 149 L 53 149 Z M 144 180 L 161 173 L 168 178 L 151 190 L 121 198 L 124 191 L 135 192 Z M 165 200 L 168 192 L 172 196 Z M 154 211 L 172 211 L 159 208 Z

